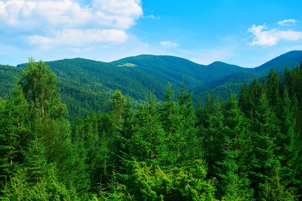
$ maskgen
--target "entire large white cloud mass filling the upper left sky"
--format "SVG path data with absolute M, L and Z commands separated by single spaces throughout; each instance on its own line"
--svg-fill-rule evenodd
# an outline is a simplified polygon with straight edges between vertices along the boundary
M 0 0 L 0 29 L 22 32 L 30 44 L 48 47 L 123 43 L 125 30 L 142 15 L 141 0 L 92 0 L 85 7 L 76 0 Z M 37 35 L 28 37 L 31 33 Z

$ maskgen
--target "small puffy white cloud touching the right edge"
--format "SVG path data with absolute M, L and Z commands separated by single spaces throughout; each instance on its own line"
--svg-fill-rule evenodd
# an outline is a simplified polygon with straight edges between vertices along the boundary
M 268 28 L 265 25 L 253 25 L 252 28 L 249 28 L 248 32 L 252 33 L 254 39 L 248 44 L 260 46 L 273 46 L 276 45 L 280 40 L 297 41 L 302 39 L 302 32 L 281 31 L 277 29 L 264 31 L 267 29 Z

